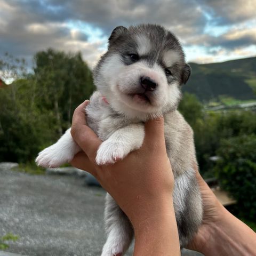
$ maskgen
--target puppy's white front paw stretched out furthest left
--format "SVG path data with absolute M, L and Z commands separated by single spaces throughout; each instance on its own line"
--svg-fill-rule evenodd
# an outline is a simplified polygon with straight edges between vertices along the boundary
M 54 144 L 38 154 L 36 164 L 45 168 L 55 168 L 69 162 L 71 159 L 69 151 L 60 149 Z

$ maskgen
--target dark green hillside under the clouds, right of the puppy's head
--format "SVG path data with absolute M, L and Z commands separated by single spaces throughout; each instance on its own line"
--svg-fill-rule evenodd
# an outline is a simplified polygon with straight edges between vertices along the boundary
M 256 99 L 256 57 L 221 63 L 189 63 L 192 69 L 183 91 L 194 93 L 202 102 L 221 97 L 238 100 Z

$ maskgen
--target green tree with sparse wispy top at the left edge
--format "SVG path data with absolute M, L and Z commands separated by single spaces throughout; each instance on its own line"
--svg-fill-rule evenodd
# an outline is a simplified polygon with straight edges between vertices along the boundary
M 38 115 L 30 103 L 33 86 L 26 78 L 26 70 L 25 61 L 10 54 L 6 53 L 0 60 L 4 81 L 15 81 L 0 89 L 0 161 L 26 162 L 38 150 L 38 126 L 34 118 Z

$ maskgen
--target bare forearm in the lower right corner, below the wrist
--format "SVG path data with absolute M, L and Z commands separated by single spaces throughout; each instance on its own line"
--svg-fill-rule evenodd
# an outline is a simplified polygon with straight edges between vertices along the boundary
M 256 255 L 254 231 L 226 209 L 222 210 L 222 215 L 223 218 L 218 223 L 209 226 L 208 240 L 199 251 L 205 256 Z

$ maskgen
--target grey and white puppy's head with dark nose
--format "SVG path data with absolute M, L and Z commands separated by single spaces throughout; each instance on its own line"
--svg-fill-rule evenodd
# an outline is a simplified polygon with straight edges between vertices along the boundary
M 94 82 L 111 107 L 147 119 L 177 108 L 190 67 L 178 39 L 157 25 L 117 27 L 94 70 Z

